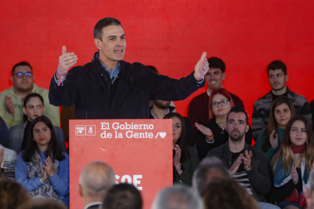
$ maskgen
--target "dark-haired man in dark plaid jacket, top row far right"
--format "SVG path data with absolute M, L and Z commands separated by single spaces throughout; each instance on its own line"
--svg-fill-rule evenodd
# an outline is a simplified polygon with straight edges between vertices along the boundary
M 295 113 L 304 115 L 309 121 L 312 121 L 311 107 L 307 99 L 292 92 L 286 86 L 289 78 L 286 65 L 280 60 L 271 62 L 267 66 L 267 75 L 272 89 L 268 94 L 257 99 L 253 105 L 252 132 L 255 141 L 257 140 L 258 132 L 267 126 L 271 104 L 279 96 L 287 96 L 295 108 Z

